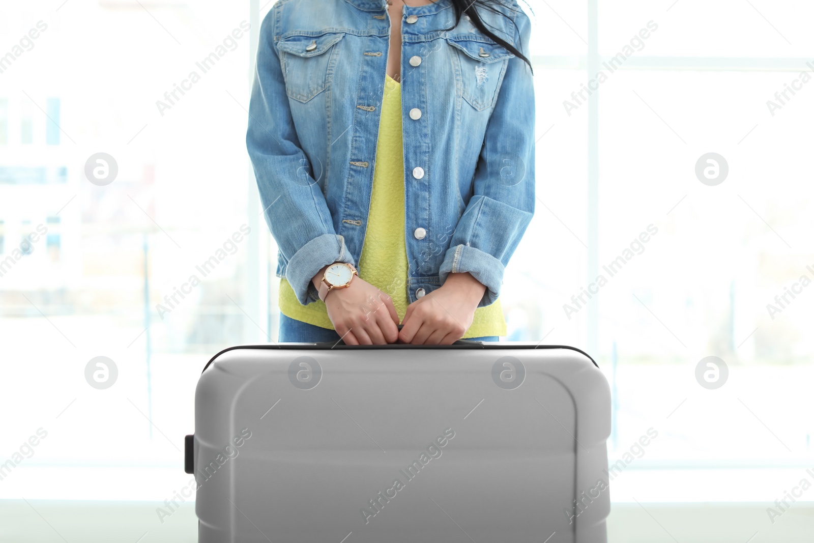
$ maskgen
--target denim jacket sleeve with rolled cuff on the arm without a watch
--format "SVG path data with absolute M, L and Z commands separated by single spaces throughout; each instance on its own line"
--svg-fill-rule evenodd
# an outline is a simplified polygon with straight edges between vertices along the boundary
M 518 11 L 515 22 L 517 47 L 527 51 L 531 21 Z M 489 118 L 472 195 L 439 270 L 441 284 L 463 272 L 484 284 L 478 307 L 497 300 L 505 266 L 534 214 L 534 109 L 531 68 L 512 57 Z

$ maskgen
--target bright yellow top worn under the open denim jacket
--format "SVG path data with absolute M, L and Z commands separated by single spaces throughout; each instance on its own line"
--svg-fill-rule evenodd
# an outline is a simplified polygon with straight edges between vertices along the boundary
M 374 162 L 373 192 L 365 242 L 358 268 L 360 277 L 391 296 L 399 319 L 407 311 L 407 249 L 405 246 L 405 175 L 401 132 L 401 85 L 387 76 L 384 85 L 379 141 Z M 280 312 L 298 321 L 334 329 L 325 302 L 300 304 L 286 278 L 280 279 Z M 506 335 L 506 324 L 498 298 L 475 309 L 472 325 L 462 336 Z

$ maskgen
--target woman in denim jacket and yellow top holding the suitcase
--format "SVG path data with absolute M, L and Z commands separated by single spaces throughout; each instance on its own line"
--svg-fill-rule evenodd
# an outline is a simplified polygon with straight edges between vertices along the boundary
M 505 335 L 503 272 L 534 212 L 530 32 L 516 0 L 274 4 L 247 147 L 280 341 Z

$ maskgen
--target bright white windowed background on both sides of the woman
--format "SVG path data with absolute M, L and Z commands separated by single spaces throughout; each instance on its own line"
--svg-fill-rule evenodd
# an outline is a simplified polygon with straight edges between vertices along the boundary
M 182 436 L 194 427 L 199 370 L 221 348 L 277 339 L 277 248 L 245 149 L 253 40 L 271 3 L 0 7 L 0 55 L 47 24 L 30 50 L 0 63 L 0 265 L 47 228 L 30 254 L 0 268 L 0 462 L 48 432 L 0 480 L 0 498 L 171 497 L 189 480 Z M 814 76 L 814 6 L 524 8 L 534 24 L 538 202 L 506 271 L 505 339 L 593 354 L 614 392 L 611 462 L 648 428 L 659 432 L 614 480 L 615 504 L 781 498 L 814 479 L 814 287 L 781 313 L 767 310 L 801 276 L 814 279 L 814 81 L 774 115 L 767 101 L 800 72 Z M 255 33 L 162 114 L 156 101 L 242 21 Z M 658 29 L 641 50 L 569 115 L 563 101 L 649 21 Z M 107 186 L 85 178 L 98 152 L 118 164 Z M 695 176 L 708 152 L 729 164 L 718 186 Z M 234 254 L 160 315 L 156 305 L 243 225 L 251 234 Z M 644 251 L 569 318 L 563 304 L 649 225 L 658 234 Z M 113 388 L 85 383 L 97 356 L 115 361 Z M 729 368 L 722 388 L 695 379 L 707 356 Z M 772 541 L 766 516 L 739 529 L 733 541 L 755 531 L 753 541 Z

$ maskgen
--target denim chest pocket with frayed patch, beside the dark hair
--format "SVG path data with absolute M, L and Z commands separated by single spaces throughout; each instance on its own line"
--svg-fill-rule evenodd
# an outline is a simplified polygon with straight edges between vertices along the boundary
M 492 42 L 453 37 L 447 38 L 447 42 L 457 53 L 463 99 L 478 111 L 492 107 L 508 59 L 514 55 Z

